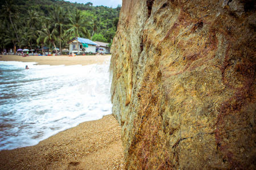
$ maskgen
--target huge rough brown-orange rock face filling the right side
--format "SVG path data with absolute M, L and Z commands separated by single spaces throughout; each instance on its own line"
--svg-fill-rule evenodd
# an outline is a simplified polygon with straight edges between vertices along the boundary
M 255 169 L 255 2 L 123 0 L 113 113 L 127 169 Z

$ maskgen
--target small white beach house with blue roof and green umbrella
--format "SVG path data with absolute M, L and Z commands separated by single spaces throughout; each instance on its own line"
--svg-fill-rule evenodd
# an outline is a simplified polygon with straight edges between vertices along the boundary
M 95 42 L 84 39 L 81 37 L 75 37 L 72 40 L 68 41 L 69 44 L 69 54 L 76 53 L 96 53 L 96 44 Z

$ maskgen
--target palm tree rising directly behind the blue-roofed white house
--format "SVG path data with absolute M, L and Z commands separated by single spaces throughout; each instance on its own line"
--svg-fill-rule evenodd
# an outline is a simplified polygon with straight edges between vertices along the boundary
M 82 14 L 80 10 L 76 10 L 75 14 L 72 14 L 69 16 L 69 22 L 68 24 L 69 29 L 67 30 L 67 34 L 71 36 L 71 38 L 76 37 L 86 37 L 90 39 L 90 33 L 86 27 L 89 25 L 88 22 L 86 22 L 82 18 Z M 77 50 L 79 49 L 79 42 L 77 41 Z

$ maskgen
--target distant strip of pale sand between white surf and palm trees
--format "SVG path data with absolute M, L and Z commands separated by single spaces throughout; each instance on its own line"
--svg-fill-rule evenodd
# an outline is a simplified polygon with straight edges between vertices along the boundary
M 36 65 L 90 65 L 94 63 L 102 64 L 109 60 L 111 55 L 105 56 L 16 56 L 16 55 L 0 55 L 0 61 L 20 61 L 20 62 L 36 62 Z

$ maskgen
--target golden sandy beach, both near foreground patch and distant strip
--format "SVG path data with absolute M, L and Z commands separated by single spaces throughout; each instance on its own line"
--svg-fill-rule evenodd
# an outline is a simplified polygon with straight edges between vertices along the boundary
M 104 63 L 111 56 L 3 56 L 0 61 L 40 65 Z M 0 169 L 123 169 L 121 127 L 113 114 L 84 122 L 38 145 L 0 151 Z

